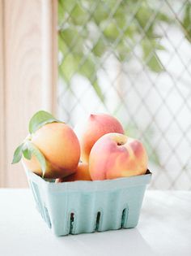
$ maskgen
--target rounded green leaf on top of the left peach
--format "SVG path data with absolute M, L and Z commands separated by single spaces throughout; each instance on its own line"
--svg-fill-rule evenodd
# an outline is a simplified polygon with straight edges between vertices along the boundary
M 55 119 L 53 115 L 49 114 L 48 112 L 38 111 L 32 116 L 32 119 L 29 122 L 28 130 L 30 133 L 34 133 L 43 125 L 53 122 L 61 123 L 61 121 Z

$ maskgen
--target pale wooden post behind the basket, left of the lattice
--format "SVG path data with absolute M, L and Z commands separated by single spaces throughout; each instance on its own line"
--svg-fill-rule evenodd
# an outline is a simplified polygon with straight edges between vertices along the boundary
M 40 109 L 55 113 L 57 1 L 0 0 L 0 185 L 27 186 L 15 147 Z

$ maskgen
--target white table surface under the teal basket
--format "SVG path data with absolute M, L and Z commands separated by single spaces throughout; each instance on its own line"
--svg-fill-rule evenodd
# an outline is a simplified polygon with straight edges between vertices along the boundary
M 191 255 L 191 192 L 147 190 L 137 228 L 56 237 L 29 189 L 0 189 L 1 256 Z

